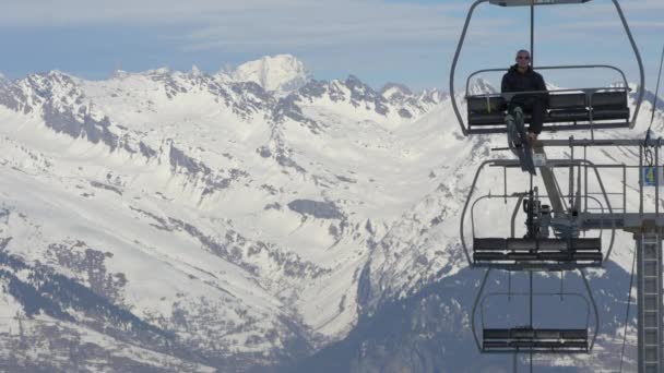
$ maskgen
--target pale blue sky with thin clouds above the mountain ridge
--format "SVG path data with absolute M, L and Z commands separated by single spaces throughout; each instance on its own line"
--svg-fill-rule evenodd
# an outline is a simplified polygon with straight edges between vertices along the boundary
M 8 0 L 4 0 L 8 1 Z M 400 82 L 447 91 L 470 0 L 23 0 L 0 14 L 0 72 L 10 79 L 62 70 L 86 79 L 159 67 L 208 72 L 290 53 L 317 79 L 355 74 L 379 88 Z M 654 87 L 664 44 L 664 1 L 620 1 Z M 527 9 L 483 4 L 462 53 L 456 86 L 505 68 L 527 47 Z M 636 62 L 609 0 L 538 7 L 537 64 L 608 63 L 637 81 Z M 617 75 L 545 75 L 564 86 L 604 85 Z M 498 74 L 485 76 L 490 81 Z

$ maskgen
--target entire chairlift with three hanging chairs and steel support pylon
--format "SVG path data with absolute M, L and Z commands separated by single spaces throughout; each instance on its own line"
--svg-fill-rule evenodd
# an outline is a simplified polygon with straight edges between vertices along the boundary
M 622 84 L 619 86 L 605 87 L 585 87 L 573 89 L 552 89 L 542 92 L 510 92 L 510 93 L 475 93 L 470 92 L 471 81 L 474 76 L 484 72 L 502 72 L 503 69 L 485 69 L 472 73 L 466 80 L 465 101 L 467 112 L 465 118 L 462 117 L 455 89 L 454 74 L 459 56 L 463 47 L 467 28 L 475 9 L 484 3 L 489 2 L 498 7 L 530 7 L 531 10 L 531 57 L 534 56 L 534 11 L 538 5 L 558 5 L 558 4 L 582 4 L 592 0 L 476 0 L 469 11 L 469 14 L 463 26 L 463 31 L 454 53 L 454 59 L 450 71 L 450 94 L 454 113 L 461 127 L 461 131 L 465 136 L 471 134 L 490 134 L 490 133 L 507 133 L 508 147 L 499 149 L 510 149 L 518 159 L 490 159 L 484 161 L 475 175 L 475 179 L 470 189 L 465 205 L 463 207 L 460 225 L 461 245 L 464 250 L 466 260 L 472 267 L 485 267 L 486 273 L 481 282 L 479 293 L 475 300 L 472 311 L 471 327 L 475 338 L 475 342 L 481 352 L 486 353 L 513 353 L 514 371 L 517 370 L 517 354 L 531 354 L 531 369 L 534 353 L 579 353 L 590 352 L 593 349 L 594 342 L 598 333 L 598 312 L 596 303 L 593 299 L 593 293 L 590 289 L 590 284 L 583 273 L 585 267 L 601 266 L 608 261 L 615 242 L 615 231 L 617 227 L 635 233 L 635 240 L 639 244 L 635 251 L 635 264 L 638 264 L 637 279 L 639 291 L 639 322 L 638 322 L 638 351 L 639 351 L 639 372 L 660 372 L 663 366 L 662 359 L 662 327 L 657 325 L 656 318 L 661 320 L 662 314 L 662 287 L 661 287 L 661 228 L 663 226 L 660 216 L 660 204 L 655 204 L 654 213 L 644 213 L 643 209 L 643 175 L 640 176 L 640 207 L 639 213 L 627 213 L 626 203 L 626 181 L 624 177 L 622 190 L 622 214 L 614 214 L 606 190 L 595 166 L 585 159 L 585 146 L 618 146 L 637 145 L 640 148 L 639 168 L 643 166 L 643 152 L 645 148 L 645 159 L 648 159 L 648 146 L 653 146 L 654 142 L 650 139 L 650 130 L 643 142 L 638 140 L 612 140 L 596 141 L 593 135 L 594 130 L 602 129 L 633 129 L 641 104 L 644 96 L 644 71 L 639 50 L 633 40 L 627 21 L 618 4 L 618 0 L 610 0 L 615 10 L 619 15 L 625 33 L 631 44 L 636 61 L 639 68 L 640 84 L 638 86 L 636 105 L 633 111 L 630 110 L 629 95 L 631 88 L 628 85 L 625 73 L 618 68 L 607 64 L 586 64 L 586 65 L 553 65 L 553 67 L 535 67 L 537 71 L 547 70 L 590 70 L 601 69 L 603 71 L 613 70 L 620 74 Z M 662 55 L 664 60 L 664 51 Z M 659 80 L 657 80 L 659 87 Z M 532 121 L 527 113 L 523 113 L 520 108 L 515 108 L 507 112 L 508 107 L 513 99 L 523 98 L 524 96 L 543 96 L 546 95 L 547 108 L 544 118 L 543 131 L 577 131 L 590 130 L 591 140 L 574 141 L 570 136 L 569 141 L 565 140 L 548 140 L 533 141 L 529 139 L 525 132 L 525 124 Z M 654 107 L 654 106 L 653 106 Z M 653 109 L 654 118 L 654 109 Z M 652 125 L 652 118 L 651 118 Z M 649 145 L 651 144 L 651 145 Z M 657 167 L 659 156 L 657 148 L 661 142 L 656 142 L 655 147 L 655 165 Z M 571 159 L 546 159 L 544 146 L 569 146 L 571 148 Z M 583 159 L 574 159 L 573 148 L 578 146 L 584 147 Z M 651 159 L 652 159 L 652 154 Z M 537 157 L 535 157 L 537 156 Z M 537 159 L 536 159 L 537 158 Z M 651 164 L 650 161 L 647 161 Z M 525 192 L 508 194 L 507 177 L 505 181 L 505 192 L 500 195 L 483 195 L 475 197 L 476 184 L 479 173 L 485 166 L 498 167 L 507 170 L 508 168 L 521 168 L 530 172 L 531 188 Z M 554 170 L 556 167 L 569 168 L 569 195 L 564 195 Z M 579 167 L 578 180 L 574 181 L 574 168 Z M 588 181 L 584 182 L 585 192 L 581 192 L 581 167 L 584 168 L 585 179 L 588 179 L 588 170 L 594 171 L 597 178 L 597 184 L 602 189 L 602 193 L 591 193 L 588 191 Z M 601 167 L 601 166 L 600 166 Z M 542 181 L 548 195 L 537 195 L 537 190 L 533 184 L 533 176 L 536 170 L 542 175 Z M 625 165 L 622 165 L 625 175 Z M 656 181 L 656 177 L 654 178 Z M 578 185 L 574 188 L 573 185 Z M 659 189 L 655 189 L 655 201 L 659 200 Z M 601 214 L 591 213 L 588 207 L 588 201 L 593 200 L 591 194 L 601 195 L 600 198 L 594 198 L 602 210 Z M 616 193 L 612 193 L 616 194 Z M 473 200 L 475 197 L 475 200 Z M 505 237 L 491 237 L 486 232 L 475 230 L 474 225 L 474 208 L 478 201 L 502 198 L 505 203 L 509 198 L 517 198 L 511 219 L 511 234 Z M 550 206 L 543 203 L 547 198 Z M 569 204 L 566 203 L 569 198 Z M 581 200 L 585 201 L 582 203 Z M 600 201 L 603 200 L 603 201 Z M 474 202 L 472 202 L 474 201 Z M 523 238 L 517 238 L 514 234 L 515 216 L 520 207 L 526 214 L 526 234 Z M 470 212 L 472 224 L 472 248 L 469 248 L 464 234 L 466 230 L 466 214 Z M 581 238 L 580 232 L 600 229 L 600 237 Z M 610 229 L 610 243 L 605 252 L 602 248 L 602 229 Z M 550 234 L 553 232 L 553 234 Z M 484 234 L 483 234 L 484 233 Z M 507 236 L 507 234 L 506 234 Z M 604 254 L 604 252 L 606 254 Z M 639 253 L 639 255 L 637 255 Z M 645 254 L 641 254 L 645 253 Z M 645 256 L 643 256 L 645 255 Z M 649 256 L 650 255 L 650 256 Z M 648 257 L 644 260 L 644 257 Z M 645 263 L 645 262 L 648 263 Z M 645 263 L 645 264 L 644 264 Z M 484 294 L 484 289 L 491 269 L 501 269 L 507 272 L 509 276 L 508 292 L 494 292 Z M 643 269 L 643 270 L 641 270 Z M 533 290 L 533 273 L 535 270 L 560 270 L 561 282 L 560 292 L 535 292 Z M 578 270 L 583 279 L 586 294 L 570 293 L 562 291 L 562 281 L 566 270 Z M 502 273 L 505 273 L 502 272 Z M 512 272 L 527 272 L 530 275 L 530 292 L 512 292 L 511 291 L 511 274 Z M 632 264 L 633 273 L 633 264 Z M 633 274 L 632 274 L 633 275 Z M 644 280 L 644 278 L 648 279 Z M 652 281 L 651 281 L 652 279 Z M 655 281 L 656 280 L 656 281 Z M 660 284 L 657 287 L 653 284 Z M 631 287 L 631 285 L 630 285 Z M 660 294 L 660 296 L 657 296 Z M 506 316 L 505 314 L 491 313 L 491 310 L 486 309 L 487 299 L 496 297 L 525 298 L 530 301 L 530 308 L 521 306 L 517 310 L 517 314 L 527 310 L 526 320 L 521 320 L 523 315 L 517 317 Z M 544 308 L 535 312 L 533 304 L 535 299 L 548 297 L 560 297 L 564 300 L 581 300 L 584 304 L 585 312 L 582 310 L 569 310 L 566 306 Z M 630 296 L 631 297 L 631 292 Z M 541 306 L 542 303 L 537 304 Z M 628 303 L 629 304 L 629 303 Z M 569 304 L 568 304 L 569 305 Z M 558 310 L 567 310 L 567 317 L 552 312 Z M 536 314 L 536 317 L 535 317 Z M 478 317 L 479 315 L 479 317 Z M 486 315 L 489 315 L 489 321 Z M 629 315 L 629 306 L 627 315 Z M 626 316 L 627 317 L 627 316 Z M 495 323 L 495 320 L 500 323 Z M 553 325 L 554 321 L 561 322 L 558 325 Z M 509 322 L 506 322 L 509 321 Z M 569 324 L 568 324 L 569 322 Z M 661 323 L 660 323 L 661 324 Z M 627 328 L 627 318 L 626 318 Z M 660 351 L 660 352 L 657 352 Z

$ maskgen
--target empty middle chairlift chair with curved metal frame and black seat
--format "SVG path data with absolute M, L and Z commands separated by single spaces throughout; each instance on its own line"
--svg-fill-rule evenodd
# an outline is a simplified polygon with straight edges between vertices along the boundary
M 549 164 L 552 166 L 569 167 L 573 161 L 552 160 Z M 573 212 L 568 212 L 562 216 L 555 216 L 552 214 L 550 207 L 542 203 L 547 196 L 538 195 L 536 192 L 509 194 L 506 190 L 505 194 L 485 194 L 474 198 L 479 176 L 487 165 L 503 167 L 507 170 L 509 167 L 518 167 L 519 161 L 507 159 L 486 160 L 479 166 L 475 173 L 473 184 L 471 185 L 466 203 L 461 214 L 460 225 L 461 244 L 471 266 L 506 270 L 571 270 L 586 267 L 601 267 L 603 263 L 608 260 L 615 242 L 615 226 L 600 229 L 598 237 L 579 237 L 580 232 L 585 230 L 585 227 L 583 226 L 583 221 L 578 219 L 578 216 L 582 215 L 582 213 L 589 208 L 588 204 L 585 206 L 576 206 L 573 207 Z M 591 168 L 593 168 L 593 166 L 591 166 Z M 596 168 L 594 168 L 594 170 L 597 178 L 597 184 L 602 189 L 604 201 L 593 195 L 583 195 L 582 197 L 596 205 L 594 208 L 610 214 L 613 213 L 613 209 L 608 195 L 604 189 L 604 183 L 602 182 Z M 564 195 L 564 197 L 569 197 L 569 195 Z M 577 195 L 577 197 L 579 196 Z M 486 237 L 482 234 L 481 231 L 477 231 L 475 227 L 475 208 L 479 202 L 485 200 L 499 200 L 506 202 L 515 200 L 511 219 L 505 220 L 510 224 L 511 233 L 509 237 Z M 523 209 L 526 215 L 525 224 L 527 233 L 525 237 L 518 238 L 515 237 L 515 226 L 521 209 Z M 466 216 L 469 213 L 472 238 L 467 242 L 472 243 L 472 249 L 469 249 L 467 246 L 465 232 Z M 596 227 L 593 226 L 593 228 Z M 606 250 L 603 249 L 602 243 L 602 236 L 605 229 L 606 231 L 610 231 L 610 241 Z

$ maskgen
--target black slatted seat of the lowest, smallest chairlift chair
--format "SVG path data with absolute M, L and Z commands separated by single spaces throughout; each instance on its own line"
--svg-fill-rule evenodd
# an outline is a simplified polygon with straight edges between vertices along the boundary
M 586 352 L 588 329 L 485 328 L 484 352 Z

